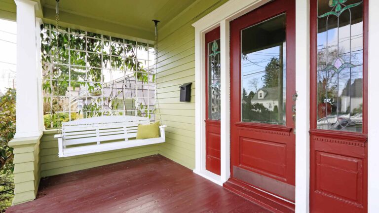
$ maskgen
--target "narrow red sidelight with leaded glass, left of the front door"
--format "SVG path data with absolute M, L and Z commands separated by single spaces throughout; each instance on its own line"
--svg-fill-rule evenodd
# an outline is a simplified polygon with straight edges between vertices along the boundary
M 206 120 L 205 120 L 205 169 L 220 175 L 220 27 L 205 35 Z

